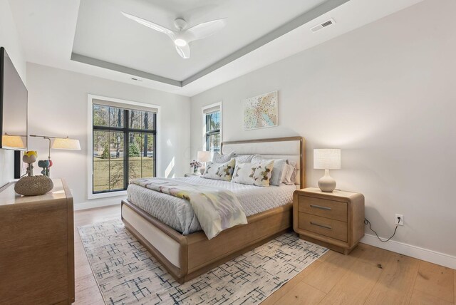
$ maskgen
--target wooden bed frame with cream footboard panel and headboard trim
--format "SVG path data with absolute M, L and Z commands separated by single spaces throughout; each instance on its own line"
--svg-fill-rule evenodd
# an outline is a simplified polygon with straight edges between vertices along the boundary
M 300 184 L 298 186 L 304 188 L 304 138 L 225 142 L 222 143 L 222 151 L 223 145 L 227 144 L 278 143 L 280 145 L 279 143 L 283 141 L 300 143 Z M 122 200 L 122 221 L 167 272 L 179 283 L 184 283 L 288 231 L 292 227 L 292 207 L 293 204 L 289 203 L 249 216 L 248 224 L 224 230 L 210 240 L 202 231 L 182 235 L 128 200 Z M 135 225 L 130 222 L 135 222 Z

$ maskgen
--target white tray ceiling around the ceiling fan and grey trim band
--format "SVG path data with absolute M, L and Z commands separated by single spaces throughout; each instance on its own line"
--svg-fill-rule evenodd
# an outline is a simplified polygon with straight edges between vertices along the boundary
M 350 0 L 233 61 L 217 66 L 214 71 L 209 68 L 209 71 L 199 73 L 195 81 L 183 87 L 147 78 L 142 78 L 141 82 L 132 81 L 130 78 L 135 76 L 134 73 L 71 61 L 71 53 L 182 81 L 325 1 L 81 0 L 79 16 L 78 0 L 9 2 L 27 61 L 192 96 L 420 1 Z M 192 57 L 185 60 L 177 56 L 167 36 L 125 19 L 120 10 L 170 28 L 177 16 L 187 19 L 190 26 L 227 17 L 228 25 L 207 41 L 192 42 Z M 328 18 L 333 18 L 336 24 L 317 33 L 309 30 Z

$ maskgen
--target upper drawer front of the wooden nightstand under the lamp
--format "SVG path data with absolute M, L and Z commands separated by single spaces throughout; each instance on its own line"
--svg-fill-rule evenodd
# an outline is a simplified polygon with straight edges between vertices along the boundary
M 347 222 L 347 202 L 299 195 L 298 210 L 299 212 Z

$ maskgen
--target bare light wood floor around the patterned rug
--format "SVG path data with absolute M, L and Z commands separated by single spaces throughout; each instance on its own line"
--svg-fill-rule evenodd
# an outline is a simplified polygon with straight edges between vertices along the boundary
M 120 218 L 120 205 L 75 212 L 75 227 Z M 104 304 L 75 229 L 76 303 Z M 455 304 L 456 270 L 366 244 L 329 251 L 261 305 Z

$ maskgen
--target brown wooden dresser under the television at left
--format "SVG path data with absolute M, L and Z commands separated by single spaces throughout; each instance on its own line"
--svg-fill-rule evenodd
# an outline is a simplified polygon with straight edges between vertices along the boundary
M 74 302 L 73 197 L 53 184 L 39 196 L 0 189 L 0 304 Z

